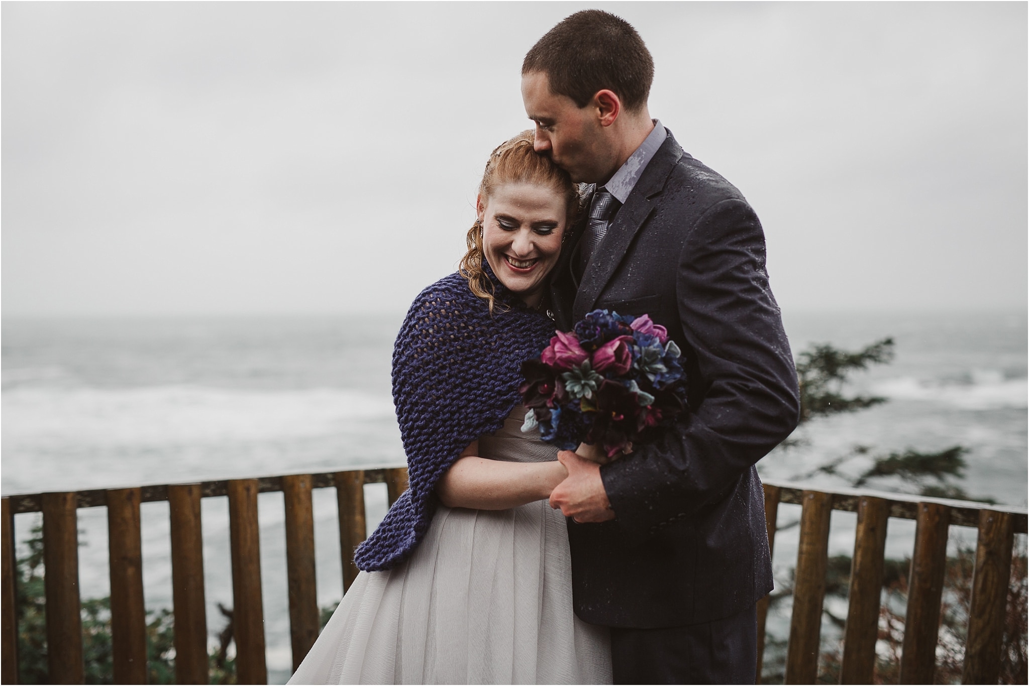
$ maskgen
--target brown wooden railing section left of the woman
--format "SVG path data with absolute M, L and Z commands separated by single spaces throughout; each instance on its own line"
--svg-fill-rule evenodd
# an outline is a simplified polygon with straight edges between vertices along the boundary
M 281 491 L 286 509 L 286 570 L 293 669 L 318 638 L 315 593 L 315 538 L 312 489 L 334 486 L 340 513 L 344 588 L 357 576 L 354 548 L 364 540 L 364 484 L 386 483 L 389 503 L 407 488 L 407 470 L 370 469 L 323 474 L 290 474 L 151 485 L 133 489 L 9 496 L 2 503 L 3 622 L 0 681 L 17 683 L 17 614 L 13 517 L 43 513 L 43 565 L 49 682 L 83 680 L 82 626 L 78 593 L 78 508 L 107 507 L 111 569 L 111 648 L 116 684 L 145 684 L 146 611 L 140 503 L 167 500 L 171 512 L 172 604 L 175 616 L 175 677 L 180 684 L 208 683 L 207 613 L 201 498 L 228 496 L 232 549 L 234 639 L 240 684 L 268 683 L 264 616 L 261 605 L 257 494 Z

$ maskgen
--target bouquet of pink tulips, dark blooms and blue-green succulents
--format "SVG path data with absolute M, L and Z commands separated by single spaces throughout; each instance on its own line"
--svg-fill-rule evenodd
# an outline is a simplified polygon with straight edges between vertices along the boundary
M 598 445 L 608 460 L 629 453 L 683 411 L 679 355 L 648 315 L 595 310 L 522 364 L 519 391 L 529 408 L 522 431 L 538 426 L 544 441 L 565 450 Z

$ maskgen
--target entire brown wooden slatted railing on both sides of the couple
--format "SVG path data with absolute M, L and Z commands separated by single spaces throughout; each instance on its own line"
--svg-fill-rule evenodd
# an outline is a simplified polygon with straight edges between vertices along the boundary
M 208 681 L 201 499 L 228 497 L 237 679 L 267 683 L 261 606 L 257 494 L 284 494 L 286 568 L 293 669 L 318 637 L 315 593 L 312 489 L 335 488 L 344 588 L 357 570 L 352 553 L 364 539 L 365 483 L 387 484 L 390 504 L 406 488 L 406 470 L 374 469 L 267 478 L 205 481 L 132 489 L 9 496 L 2 501 L 2 671 L 17 683 L 17 625 L 13 517 L 43 513 L 46 638 L 51 683 L 81 683 L 82 630 L 78 593 L 77 511 L 108 508 L 111 573 L 111 638 L 114 683 L 146 683 L 145 609 L 140 503 L 167 500 L 171 512 L 175 670 L 180 684 Z M 800 542 L 786 653 L 787 684 L 817 678 L 822 603 L 832 510 L 857 512 L 849 612 L 844 633 L 842 683 L 872 683 L 883 580 L 886 527 L 890 517 L 915 519 L 909 576 L 908 616 L 900 682 L 931 684 L 950 526 L 979 530 L 963 683 L 996 683 L 1016 533 L 1026 532 L 1026 510 L 867 491 L 803 491 L 765 484 L 769 540 L 775 543 L 779 505 L 802 506 Z M 764 652 L 768 599 L 758 605 L 758 664 Z

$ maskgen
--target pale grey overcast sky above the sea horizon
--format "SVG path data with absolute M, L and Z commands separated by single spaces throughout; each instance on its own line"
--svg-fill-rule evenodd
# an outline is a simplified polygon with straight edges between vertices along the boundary
M 784 311 L 1025 309 L 1026 3 L 6 2 L 4 314 L 402 312 L 597 6 Z

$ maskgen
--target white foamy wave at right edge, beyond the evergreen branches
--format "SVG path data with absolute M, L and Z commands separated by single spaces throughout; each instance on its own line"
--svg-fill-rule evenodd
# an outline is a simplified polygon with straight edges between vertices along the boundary
M 960 382 L 899 376 L 873 384 L 872 391 L 891 400 L 935 402 L 962 409 L 1029 407 L 1029 382 L 1025 377 L 1005 378 L 997 370 L 975 370 Z

